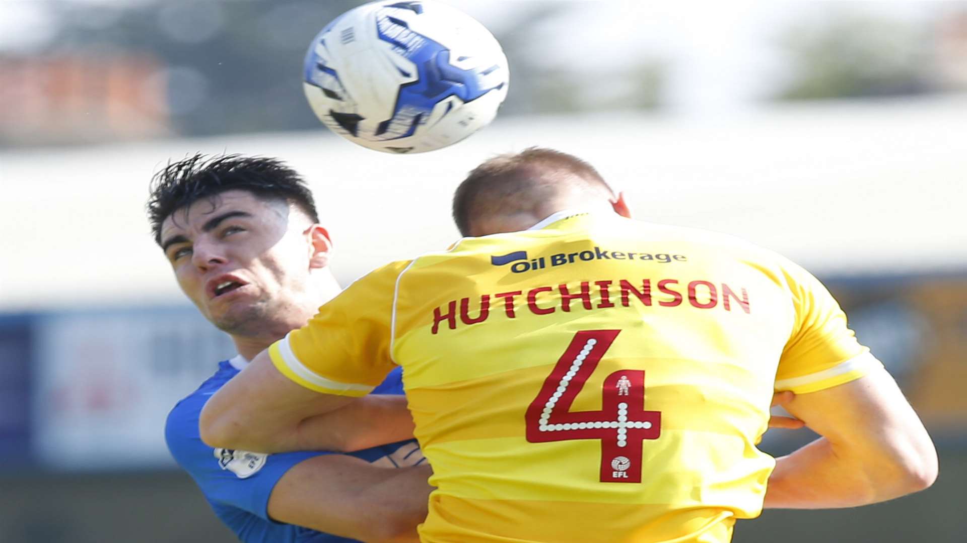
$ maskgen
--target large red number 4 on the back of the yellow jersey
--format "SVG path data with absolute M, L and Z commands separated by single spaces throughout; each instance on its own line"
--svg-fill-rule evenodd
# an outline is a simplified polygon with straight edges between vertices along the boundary
M 604 379 L 601 411 L 571 411 L 574 398 L 621 330 L 583 330 L 558 359 L 527 408 L 527 441 L 601 440 L 601 481 L 641 482 L 642 440 L 656 440 L 661 414 L 645 411 L 645 372 L 619 370 Z

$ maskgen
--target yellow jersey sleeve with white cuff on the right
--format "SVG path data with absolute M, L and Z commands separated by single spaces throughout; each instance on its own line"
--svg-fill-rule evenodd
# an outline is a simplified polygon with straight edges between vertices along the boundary
M 815 392 L 882 367 L 846 326 L 846 314 L 818 279 L 791 262 L 784 272 L 796 319 L 779 358 L 777 390 Z

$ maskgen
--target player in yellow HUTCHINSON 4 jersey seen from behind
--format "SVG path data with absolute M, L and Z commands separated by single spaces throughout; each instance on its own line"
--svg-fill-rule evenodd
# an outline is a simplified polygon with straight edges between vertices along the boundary
M 815 278 L 628 217 L 575 157 L 484 162 L 454 197 L 466 238 L 321 307 L 213 396 L 202 438 L 284 449 L 402 366 L 437 487 L 425 541 L 720 543 L 764 504 L 931 484 L 923 425 Z M 775 390 L 822 436 L 777 460 L 755 446 Z

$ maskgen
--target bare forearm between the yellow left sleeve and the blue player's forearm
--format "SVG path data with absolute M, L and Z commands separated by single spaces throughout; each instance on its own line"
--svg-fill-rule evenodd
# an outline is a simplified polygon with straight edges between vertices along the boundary
M 350 452 L 413 438 L 413 417 L 406 398 L 369 395 L 328 414 L 303 420 L 302 450 Z

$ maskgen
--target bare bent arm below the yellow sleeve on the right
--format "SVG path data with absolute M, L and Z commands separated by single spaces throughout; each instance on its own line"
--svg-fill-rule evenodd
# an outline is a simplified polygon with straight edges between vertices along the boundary
M 765 506 L 852 507 L 923 490 L 937 453 L 920 418 L 885 369 L 784 404 L 822 436 L 777 459 Z

